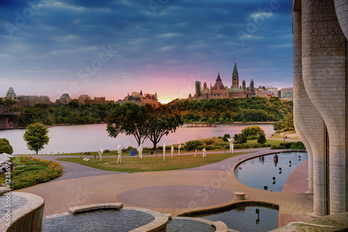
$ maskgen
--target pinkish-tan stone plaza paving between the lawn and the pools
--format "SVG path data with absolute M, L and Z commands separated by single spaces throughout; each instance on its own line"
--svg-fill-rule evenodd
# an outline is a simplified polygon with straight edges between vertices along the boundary
M 253 153 L 203 167 L 164 172 L 108 172 L 59 161 L 63 166 L 63 176 L 19 191 L 37 194 L 45 199 L 46 215 L 65 213 L 74 206 L 121 202 L 124 206 L 143 207 L 177 216 L 229 206 L 237 202 L 232 197 L 234 192 L 245 192 L 246 201 L 278 205 L 279 214 L 282 215 L 279 226 L 285 226 L 293 219 L 307 218 L 313 212 L 313 195 L 305 194 L 308 189 L 308 171 L 305 169 L 308 169 L 308 165 L 301 165 L 302 172 L 288 179 L 290 189 L 296 188 L 297 192 L 257 190 L 239 183 L 233 175 L 233 166 L 245 158 L 274 153 L 276 150 L 262 148 L 245 151 Z M 57 157 L 63 156 L 40 156 L 50 160 Z M 177 203 L 173 204 L 171 199 Z

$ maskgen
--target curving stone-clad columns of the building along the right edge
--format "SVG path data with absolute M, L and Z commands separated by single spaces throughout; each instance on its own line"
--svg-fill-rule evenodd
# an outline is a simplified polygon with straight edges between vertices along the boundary
M 313 216 L 348 211 L 348 2 L 293 0 L 294 126 Z M 334 91 L 323 88 L 325 83 Z

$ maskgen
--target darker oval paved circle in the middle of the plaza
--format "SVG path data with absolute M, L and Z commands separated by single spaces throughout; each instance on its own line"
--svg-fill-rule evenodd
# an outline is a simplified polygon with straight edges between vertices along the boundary
M 223 204 L 233 194 L 219 188 L 196 185 L 162 185 L 136 188 L 118 194 L 118 201 L 147 208 L 193 208 Z

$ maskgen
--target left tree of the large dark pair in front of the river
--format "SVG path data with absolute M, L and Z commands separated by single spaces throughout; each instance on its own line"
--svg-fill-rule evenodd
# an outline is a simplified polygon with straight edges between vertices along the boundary
M 134 135 L 140 145 L 146 138 L 145 123 L 148 121 L 146 114 L 144 106 L 124 103 L 106 117 L 106 131 L 112 138 L 116 138 L 120 133 Z

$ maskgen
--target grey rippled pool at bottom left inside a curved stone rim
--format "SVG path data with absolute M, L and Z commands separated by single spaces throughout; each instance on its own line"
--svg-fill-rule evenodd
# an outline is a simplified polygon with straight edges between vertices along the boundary
M 127 232 L 152 222 L 154 216 L 138 210 L 97 210 L 45 220 L 45 232 Z

